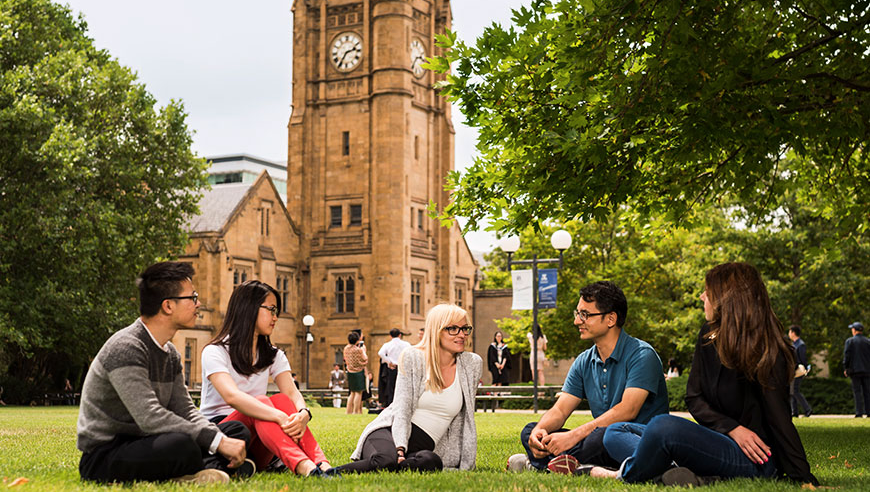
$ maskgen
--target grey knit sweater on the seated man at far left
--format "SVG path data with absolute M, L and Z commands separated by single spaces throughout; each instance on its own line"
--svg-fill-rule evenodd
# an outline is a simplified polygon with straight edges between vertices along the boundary
M 171 343 L 164 352 L 145 325 L 135 323 L 112 335 L 91 363 L 82 388 L 78 440 L 93 451 L 118 434 L 189 435 L 208 449 L 218 433 L 193 405 L 184 386 L 181 357 Z

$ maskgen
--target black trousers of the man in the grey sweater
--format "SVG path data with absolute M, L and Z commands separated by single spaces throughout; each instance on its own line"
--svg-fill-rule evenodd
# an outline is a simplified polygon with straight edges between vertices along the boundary
M 251 433 L 241 422 L 218 426 L 228 437 L 251 440 Z M 160 481 L 191 475 L 204 468 L 227 469 L 228 461 L 218 454 L 209 455 L 193 438 L 180 432 L 151 436 L 119 435 L 115 439 L 83 453 L 79 462 L 82 480 L 96 482 Z

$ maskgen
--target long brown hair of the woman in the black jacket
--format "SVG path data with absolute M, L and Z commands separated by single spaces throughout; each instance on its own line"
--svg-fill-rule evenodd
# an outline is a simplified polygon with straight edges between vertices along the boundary
M 787 367 L 794 357 L 758 270 L 748 263 L 723 263 L 707 272 L 705 284 L 713 306 L 707 340 L 722 364 L 770 387 L 777 357 L 782 354 Z M 789 372 L 789 379 L 793 375 Z

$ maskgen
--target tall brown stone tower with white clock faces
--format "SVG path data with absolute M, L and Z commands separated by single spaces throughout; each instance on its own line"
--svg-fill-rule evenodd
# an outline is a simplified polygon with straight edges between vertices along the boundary
M 415 343 L 435 304 L 471 314 L 477 265 L 459 228 L 427 210 L 448 202 L 454 165 L 442 76 L 422 67 L 451 26 L 449 0 L 295 0 L 293 13 L 287 208 L 307 262 L 299 315 L 316 320 L 303 380 L 319 387 L 350 330 L 377 372 L 391 328 Z

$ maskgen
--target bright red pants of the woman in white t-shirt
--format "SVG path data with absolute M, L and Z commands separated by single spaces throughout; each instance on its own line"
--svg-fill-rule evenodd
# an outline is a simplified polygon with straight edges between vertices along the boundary
M 258 396 L 257 399 L 287 415 L 293 415 L 297 411 L 296 405 L 283 393 L 271 397 Z M 314 440 L 311 429 L 305 429 L 305 433 L 297 443 L 285 434 L 281 426 L 275 422 L 257 420 L 238 411 L 227 415 L 222 422 L 227 420 L 237 420 L 251 431 L 251 445 L 248 448 L 248 455 L 254 460 L 258 470 L 264 470 L 274 456 L 281 458 L 287 468 L 294 472 L 296 465 L 302 460 L 311 460 L 315 464 L 327 461 L 320 445 Z

